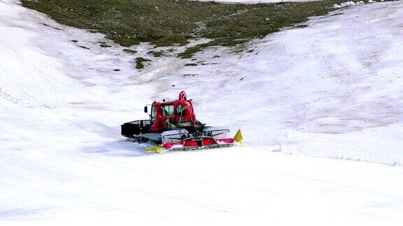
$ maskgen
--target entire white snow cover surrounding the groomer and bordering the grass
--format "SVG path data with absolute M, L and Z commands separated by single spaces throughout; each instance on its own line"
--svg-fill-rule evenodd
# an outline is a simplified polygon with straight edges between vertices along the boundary
M 402 15 L 400 2 L 355 6 L 248 51 L 213 47 L 205 65 L 138 71 L 151 46 L 126 54 L 0 0 L 0 225 L 400 225 Z M 181 90 L 246 146 L 146 155 L 120 136 Z

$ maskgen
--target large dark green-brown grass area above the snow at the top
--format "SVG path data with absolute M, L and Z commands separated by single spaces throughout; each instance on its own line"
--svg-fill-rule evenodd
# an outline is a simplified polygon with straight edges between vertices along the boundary
M 212 45 L 238 45 L 262 38 L 282 27 L 325 15 L 334 3 L 226 4 L 188 0 L 22 0 L 23 6 L 50 15 L 59 23 L 105 33 L 129 47 L 142 42 L 184 45 L 191 38 L 211 38 L 190 47 L 181 57 Z

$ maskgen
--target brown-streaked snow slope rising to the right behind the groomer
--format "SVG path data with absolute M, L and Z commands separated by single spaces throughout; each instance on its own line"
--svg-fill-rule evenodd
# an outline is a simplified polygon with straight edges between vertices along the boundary
M 256 40 L 248 51 L 203 52 L 206 66 L 181 68 L 162 82 L 196 93 L 202 121 L 243 128 L 250 145 L 401 164 L 402 8 L 396 2 L 334 11 Z

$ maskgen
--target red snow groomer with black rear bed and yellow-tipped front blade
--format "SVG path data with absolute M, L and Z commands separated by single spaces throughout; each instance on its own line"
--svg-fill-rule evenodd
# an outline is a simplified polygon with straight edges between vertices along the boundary
M 227 137 L 229 129 L 205 126 L 197 121 L 192 100 L 188 100 L 185 91 L 179 93 L 178 100 L 154 101 L 144 107 L 150 119 L 130 121 L 122 124 L 122 135 L 136 142 L 152 141 L 158 146 L 146 149 L 146 152 L 164 152 L 165 150 L 192 150 L 233 146 L 242 142 L 241 130 L 234 138 Z

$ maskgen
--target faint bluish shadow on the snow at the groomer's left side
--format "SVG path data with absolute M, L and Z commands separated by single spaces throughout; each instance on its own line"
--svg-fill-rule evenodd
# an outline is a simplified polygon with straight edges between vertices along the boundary
M 106 142 L 101 146 L 85 147 L 82 151 L 85 153 L 102 153 L 106 156 L 136 157 L 150 155 L 145 151 L 148 146 L 150 146 L 150 144 L 118 140 L 114 142 Z

